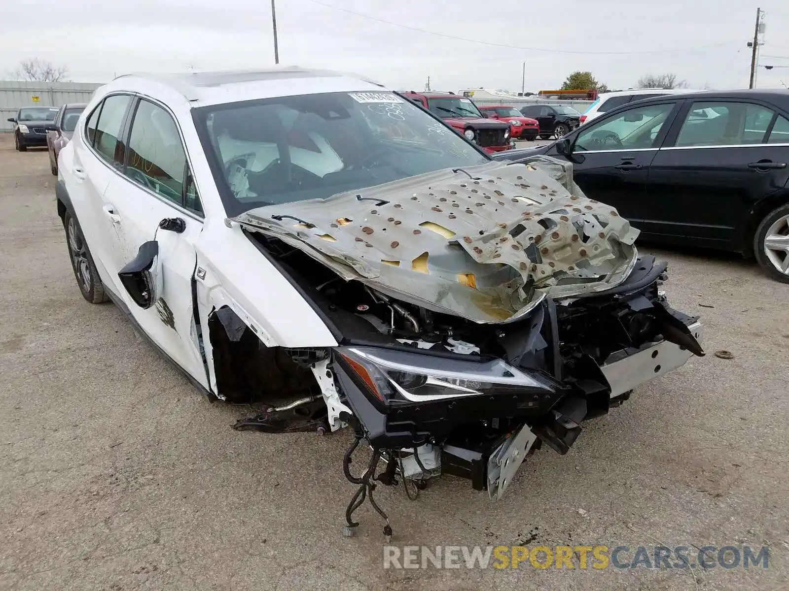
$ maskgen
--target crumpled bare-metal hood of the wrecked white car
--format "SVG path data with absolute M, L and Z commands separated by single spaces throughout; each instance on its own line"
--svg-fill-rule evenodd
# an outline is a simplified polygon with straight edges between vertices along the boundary
M 630 273 L 638 230 L 587 199 L 572 165 L 489 162 L 234 218 L 380 292 L 475 322 L 511 322 L 544 296 Z

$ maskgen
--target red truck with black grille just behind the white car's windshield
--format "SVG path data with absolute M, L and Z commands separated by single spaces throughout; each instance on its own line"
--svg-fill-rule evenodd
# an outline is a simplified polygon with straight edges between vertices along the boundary
M 485 118 L 466 97 L 446 92 L 402 92 L 403 96 L 424 107 L 447 125 L 488 153 L 514 148 L 510 124 Z

